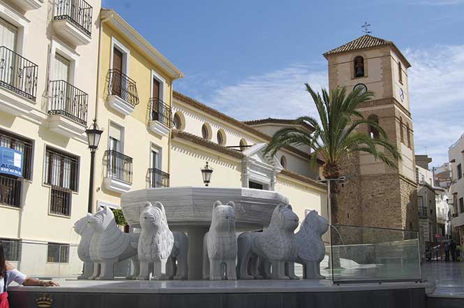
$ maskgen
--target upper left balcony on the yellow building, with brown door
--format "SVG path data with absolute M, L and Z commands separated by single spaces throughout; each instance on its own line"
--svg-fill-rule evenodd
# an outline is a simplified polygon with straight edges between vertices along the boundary
M 130 115 L 139 103 L 137 85 L 117 69 L 108 71 L 108 105 L 122 115 Z

